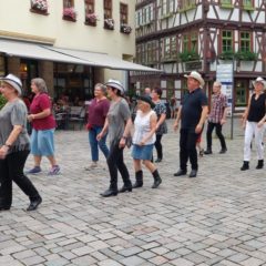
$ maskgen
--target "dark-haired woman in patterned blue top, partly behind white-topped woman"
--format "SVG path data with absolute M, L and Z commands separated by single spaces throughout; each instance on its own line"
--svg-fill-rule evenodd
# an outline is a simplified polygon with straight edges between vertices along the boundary
M 162 137 L 163 134 L 167 133 L 167 125 L 165 122 L 166 119 L 166 106 L 161 101 L 162 90 L 160 88 L 155 88 L 152 90 L 152 100 L 155 104 L 154 111 L 157 115 L 157 124 L 156 124 L 156 141 L 155 141 L 155 149 L 157 152 L 157 158 L 155 163 L 160 163 L 163 160 L 163 145 L 162 145 Z

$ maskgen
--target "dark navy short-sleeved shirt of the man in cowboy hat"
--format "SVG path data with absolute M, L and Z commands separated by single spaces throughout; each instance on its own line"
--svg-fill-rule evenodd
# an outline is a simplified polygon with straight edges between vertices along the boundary
M 202 106 L 207 105 L 207 96 L 201 88 L 184 95 L 181 111 L 181 129 L 195 129 L 202 115 Z

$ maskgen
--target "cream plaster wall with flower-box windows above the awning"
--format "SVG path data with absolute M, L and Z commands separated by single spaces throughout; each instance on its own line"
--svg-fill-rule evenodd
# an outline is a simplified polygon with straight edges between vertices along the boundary
M 114 31 L 103 29 L 103 1 L 95 1 L 98 25 L 84 24 L 84 1 L 75 0 L 76 22 L 62 20 L 63 3 L 48 0 L 49 16 L 30 12 L 30 0 L 1 0 L 0 30 L 44 38 L 54 38 L 57 47 L 106 52 L 122 58 L 122 54 L 135 53 L 134 10 L 135 0 L 123 0 L 129 4 L 129 24 L 131 34 L 120 32 L 120 0 L 113 0 Z

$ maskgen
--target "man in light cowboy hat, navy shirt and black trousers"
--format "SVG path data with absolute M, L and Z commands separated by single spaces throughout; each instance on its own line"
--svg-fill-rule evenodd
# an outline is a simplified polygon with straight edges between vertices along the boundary
M 203 130 L 208 108 L 207 98 L 202 90 L 204 86 L 202 75 L 196 71 L 192 71 L 185 78 L 187 78 L 188 93 L 183 99 L 182 108 L 180 108 L 174 123 L 174 130 L 177 130 L 181 120 L 180 170 L 174 176 L 186 174 L 186 164 L 190 158 L 192 164 L 190 177 L 196 177 L 198 170 L 196 141 Z

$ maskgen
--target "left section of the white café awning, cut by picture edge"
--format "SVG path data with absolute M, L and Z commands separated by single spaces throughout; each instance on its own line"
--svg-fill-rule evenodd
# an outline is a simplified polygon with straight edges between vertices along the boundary
M 22 41 L 0 40 L 0 52 L 6 53 L 9 57 L 13 55 L 20 58 L 48 60 L 63 63 L 96 65 L 95 63 L 89 60 L 84 61 L 71 55 L 66 55 L 63 53 L 45 49 L 37 43 L 29 43 Z

